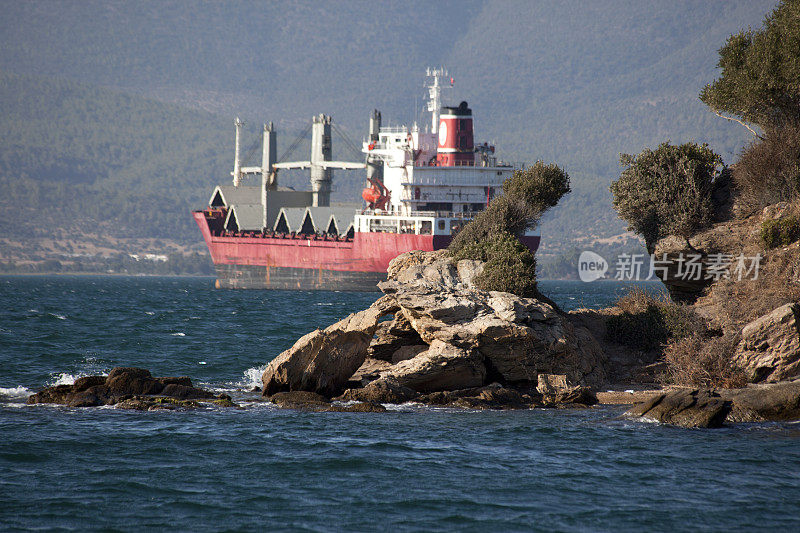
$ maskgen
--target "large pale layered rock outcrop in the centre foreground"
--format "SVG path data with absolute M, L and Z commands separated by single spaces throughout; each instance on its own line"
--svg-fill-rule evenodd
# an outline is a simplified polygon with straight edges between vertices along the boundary
M 586 328 L 547 302 L 475 288 L 482 269 L 479 261 L 455 263 L 442 252 L 398 256 L 379 284 L 385 296 L 279 355 L 262 376 L 263 394 L 330 398 L 349 387 L 339 399 L 402 403 L 492 382 L 530 389 L 540 374 L 564 374 L 576 385 L 604 381 L 602 351 Z M 385 316 L 391 320 L 381 322 Z M 503 394 L 515 405 L 533 401 L 486 394 L 492 398 L 475 396 L 473 403 L 495 405 Z M 583 389 L 551 399 L 568 396 L 590 403 Z

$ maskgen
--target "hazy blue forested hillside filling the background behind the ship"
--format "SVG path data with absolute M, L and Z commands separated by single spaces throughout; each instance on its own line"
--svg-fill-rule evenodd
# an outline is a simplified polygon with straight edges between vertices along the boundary
M 375 107 L 422 120 L 424 68 L 443 64 L 477 140 L 572 176 L 542 227 L 543 251 L 566 252 L 622 232 L 608 194 L 619 152 L 694 139 L 735 159 L 746 130 L 697 94 L 727 36 L 773 5 L 5 1 L 1 202 L 26 216 L 0 224 L 197 240 L 187 211 L 227 179 L 236 114 L 250 135 L 274 121 L 279 153 L 320 112 L 358 140 Z M 359 177 L 337 181 L 338 199 L 357 198 Z

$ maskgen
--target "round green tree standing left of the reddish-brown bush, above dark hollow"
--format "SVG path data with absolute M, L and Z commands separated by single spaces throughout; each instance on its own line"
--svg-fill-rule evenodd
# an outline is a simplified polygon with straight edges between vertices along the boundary
M 711 222 L 711 192 L 722 158 L 707 145 L 662 143 L 638 155 L 620 154 L 624 170 L 611 183 L 613 205 L 628 229 L 653 253 L 667 235 L 689 237 Z M 691 247 L 691 244 L 689 244 Z

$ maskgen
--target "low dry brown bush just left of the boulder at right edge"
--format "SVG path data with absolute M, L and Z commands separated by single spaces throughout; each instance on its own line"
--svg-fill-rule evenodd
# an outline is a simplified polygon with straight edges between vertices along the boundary
M 733 336 L 706 337 L 694 334 L 676 339 L 664 348 L 664 383 L 693 387 L 743 387 L 747 378 L 733 362 Z

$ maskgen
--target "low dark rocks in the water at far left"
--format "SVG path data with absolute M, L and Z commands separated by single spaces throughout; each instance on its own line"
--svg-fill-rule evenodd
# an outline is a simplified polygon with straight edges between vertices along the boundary
M 56 403 L 69 407 L 118 405 L 128 409 L 172 409 L 197 407 L 197 400 L 230 403 L 230 396 L 217 396 L 194 387 L 188 377 L 154 378 L 143 368 L 117 367 L 108 376 L 78 378 L 72 385 L 48 387 L 28 398 L 29 404 Z M 231 405 L 233 405 L 231 403 Z

